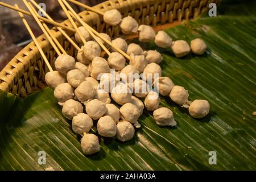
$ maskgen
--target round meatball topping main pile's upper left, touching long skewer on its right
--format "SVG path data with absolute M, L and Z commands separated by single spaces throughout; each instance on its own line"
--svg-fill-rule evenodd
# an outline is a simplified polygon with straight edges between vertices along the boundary
M 86 42 L 82 47 L 82 50 L 84 52 L 84 56 L 89 60 L 93 60 L 95 57 L 101 55 L 101 47 L 95 41 Z

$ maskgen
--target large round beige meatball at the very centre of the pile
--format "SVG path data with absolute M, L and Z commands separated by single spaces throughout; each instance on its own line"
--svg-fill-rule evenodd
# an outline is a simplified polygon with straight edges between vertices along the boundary
M 131 93 L 128 84 L 118 83 L 112 90 L 111 97 L 117 104 L 123 105 L 131 100 Z

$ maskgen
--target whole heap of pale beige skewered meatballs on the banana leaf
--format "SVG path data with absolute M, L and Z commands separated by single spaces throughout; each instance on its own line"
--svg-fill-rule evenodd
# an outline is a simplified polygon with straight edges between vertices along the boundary
M 112 26 L 120 26 L 123 34 L 138 34 L 140 42 L 151 42 L 162 48 L 170 49 L 176 57 L 183 57 L 191 50 L 203 55 L 206 44 L 201 39 L 191 41 L 172 41 L 164 31 L 155 34 L 152 27 L 138 25 L 131 16 L 122 18 L 118 10 L 106 11 L 104 21 Z M 155 50 L 143 50 L 135 43 L 127 44 L 122 38 L 110 39 L 115 46 L 126 52 L 130 60 L 98 38 L 111 51 L 108 59 L 101 57 L 101 47 L 92 40 L 84 27 L 79 27 L 86 43 L 76 33 L 75 39 L 81 45 L 76 59 L 61 55 L 55 60 L 56 71 L 48 72 L 45 80 L 54 89 L 54 96 L 62 106 L 65 118 L 72 120 L 72 129 L 82 136 L 81 148 L 85 155 L 100 151 L 100 143 L 95 134 L 89 131 L 93 122 L 97 122 L 97 133 L 102 137 L 115 137 L 126 142 L 134 137 L 135 128 L 143 110 L 152 111 L 159 126 L 175 126 L 174 115 L 167 107 L 159 107 L 159 94 L 169 96 L 181 107 L 188 108 L 194 118 L 204 118 L 209 113 L 206 100 L 188 100 L 188 91 L 175 85 L 169 77 L 162 77 L 159 63 L 162 55 Z M 114 69 L 114 72 L 112 71 Z M 130 75 L 139 75 L 128 81 Z M 157 75 L 157 77 L 155 77 Z M 110 79 L 111 78 L 111 79 Z M 157 88 L 151 89 L 151 87 Z

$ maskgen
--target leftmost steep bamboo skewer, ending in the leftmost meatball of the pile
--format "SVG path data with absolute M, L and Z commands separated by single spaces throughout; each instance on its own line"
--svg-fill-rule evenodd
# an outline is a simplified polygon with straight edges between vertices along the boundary
M 14 6 L 17 7 L 17 8 L 19 7 L 17 4 L 15 4 Z M 36 40 L 35 35 L 33 34 L 33 32 L 32 32 L 32 30 L 31 30 L 30 26 L 29 26 L 28 23 L 27 23 L 27 20 L 24 18 L 24 16 L 23 16 L 22 13 L 20 13 L 20 12 L 18 12 L 18 13 L 19 13 L 20 18 L 22 18 L 22 21 L 23 21 L 24 25 L 26 26 L 27 31 L 30 33 L 31 38 L 34 40 L 34 43 L 36 44 L 36 47 L 38 48 L 38 50 L 39 50 L 41 56 L 43 57 L 43 60 L 44 60 L 44 62 L 46 63 L 46 65 L 47 65 L 49 71 L 50 71 L 50 72 L 53 72 L 53 69 L 52 69 L 52 67 L 51 67 L 51 64 L 49 64 L 49 61 L 47 60 L 46 55 L 44 54 L 42 48 L 40 47 L 40 45 L 39 45 L 39 43 L 38 43 L 38 40 Z

